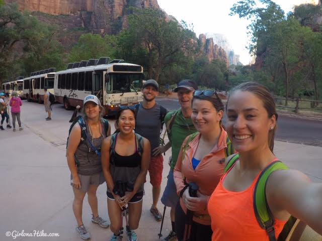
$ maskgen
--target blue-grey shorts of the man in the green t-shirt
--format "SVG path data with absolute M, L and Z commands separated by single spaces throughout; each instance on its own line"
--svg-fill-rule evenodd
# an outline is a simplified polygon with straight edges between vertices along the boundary
M 167 207 L 176 208 L 178 201 L 179 196 L 177 194 L 177 187 L 173 177 L 173 170 L 170 170 L 167 186 L 163 192 L 161 202 Z

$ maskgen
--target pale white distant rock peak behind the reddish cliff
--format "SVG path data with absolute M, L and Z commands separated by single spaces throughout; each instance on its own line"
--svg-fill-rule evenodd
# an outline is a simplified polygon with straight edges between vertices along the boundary
M 214 44 L 217 44 L 218 46 L 222 47 L 226 51 L 230 65 L 231 64 L 241 65 L 241 63 L 239 61 L 239 55 L 236 55 L 234 53 L 234 50 L 233 50 L 232 46 L 230 45 L 226 36 L 224 36 L 222 34 L 213 34 L 213 33 L 206 33 L 205 35 L 206 35 L 206 38 L 212 38 Z

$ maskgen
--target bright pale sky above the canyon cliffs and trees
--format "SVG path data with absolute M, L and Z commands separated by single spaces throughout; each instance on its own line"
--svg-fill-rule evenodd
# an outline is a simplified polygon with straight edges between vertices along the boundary
M 249 44 L 247 26 L 250 24 L 238 16 L 229 16 L 230 8 L 237 0 L 157 0 L 160 8 L 178 21 L 193 24 L 197 37 L 199 34 L 215 33 L 227 37 L 240 62 L 249 64 L 252 56 L 246 46 Z M 294 5 L 315 3 L 318 0 L 276 0 L 285 13 L 292 11 Z

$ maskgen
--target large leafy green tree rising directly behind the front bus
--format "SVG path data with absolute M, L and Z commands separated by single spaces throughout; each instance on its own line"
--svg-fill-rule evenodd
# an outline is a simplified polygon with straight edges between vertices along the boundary
M 182 61 L 182 51 L 188 56 L 193 50 L 195 34 L 184 22 L 167 21 L 160 10 L 132 9 L 128 25 L 121 34 L 121 49 L 146 60 L 148 77 L 156 81 L 165 68 Z

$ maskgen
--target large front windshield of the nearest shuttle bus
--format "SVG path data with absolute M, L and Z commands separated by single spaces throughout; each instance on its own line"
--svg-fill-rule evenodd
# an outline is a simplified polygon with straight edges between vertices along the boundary
M 143 74 L 117 73 L 105 75 L 107 93 L 137 92 L 142 87 Z

